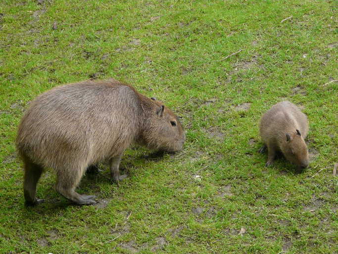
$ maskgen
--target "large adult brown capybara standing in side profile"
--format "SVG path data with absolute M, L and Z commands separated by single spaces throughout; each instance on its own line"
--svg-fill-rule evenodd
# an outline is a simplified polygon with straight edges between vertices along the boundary
M 44 168 L 54 169 L 56 190 L 63 196 L 92 204 L 94 196 L 75 192 L 88 166 L 109 160 L 118 182 L 126 177 L 119 175 L 119 163 L 132 143 L 179 151 L 184 141 L 175 114 L 130 85 L 110 79 L 55 87 L 31 103 L 18 127 L 26 203 L 42 201 L 35 191 Z

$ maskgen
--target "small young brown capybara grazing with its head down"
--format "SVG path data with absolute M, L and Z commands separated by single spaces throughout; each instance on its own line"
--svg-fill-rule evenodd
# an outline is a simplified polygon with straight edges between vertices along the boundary
M 265 144 L 261 151 L 268 148 L 266 166 L 270 166 L 276 152 L 281 151 L 299 169 L 308 167 L 309 154 L 304 141 L 308 131 L 307 117 L 296 105 L 283 101 L 272 106 L 260 123 L 260 135 Z

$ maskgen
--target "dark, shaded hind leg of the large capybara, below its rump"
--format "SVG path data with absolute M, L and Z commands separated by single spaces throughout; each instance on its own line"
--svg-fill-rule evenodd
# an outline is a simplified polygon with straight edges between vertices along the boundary
M 36 205 L 44 202 L 44 199 L 38 199 L 35 196 L 38 181 L 44 171 L 43 167 L 33 163 L 28 158 L 24 158 L 24 170 L 23 193 L 25 205 Z

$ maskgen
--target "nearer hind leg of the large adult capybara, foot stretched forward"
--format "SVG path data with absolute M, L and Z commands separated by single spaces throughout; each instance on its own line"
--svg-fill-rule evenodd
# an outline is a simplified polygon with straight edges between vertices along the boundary
M 56 191 L 76 204 L 95 204 L 95 195 L 80 195 L 75 188 L 80 183 L 83 170 L 64 170 L 57 172 Z

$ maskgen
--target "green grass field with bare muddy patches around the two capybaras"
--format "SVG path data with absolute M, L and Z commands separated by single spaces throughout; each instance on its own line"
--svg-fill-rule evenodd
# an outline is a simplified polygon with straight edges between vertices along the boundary
M 0 253 L 338 253 L 336 0 L 0 0 Z M 232 55 L 233 54 L 233 55 Z M 228 57 L 229 56 L 229 57 Z M 51 87 L 116 78 L 165 102 L 182 152 L 129 149 L 74 206 L 46 172 L 26 208 L 15 153 L 24 109 Z M 335 80 L 335 81 L 334 81 Z M 310 167 L 257 151 L 261 115 L 308 116 Z

